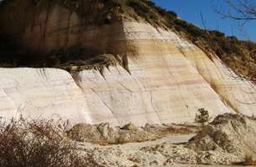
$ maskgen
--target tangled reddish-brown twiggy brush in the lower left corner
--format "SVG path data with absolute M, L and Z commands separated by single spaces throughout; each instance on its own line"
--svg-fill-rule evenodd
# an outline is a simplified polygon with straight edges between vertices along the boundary
M 54 121 L 1 121 L 0 141 L 0 166 L 99 166 L 91 155 L 80 154 L 76 144 L 65 139 L 60 124 Z

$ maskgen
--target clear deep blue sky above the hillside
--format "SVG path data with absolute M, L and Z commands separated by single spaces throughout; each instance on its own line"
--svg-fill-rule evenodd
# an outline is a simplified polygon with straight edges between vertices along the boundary
M 227 35 L 237 36 L 240 39 L 256 41 L 256 21 L 246 23 L 243 27 L 236 21 L 223 19 L 213 8 L 227 10 L 227 5 L 222 0 L 153 0 L 163 8 L 175 11 L 180 18 L 202 27 L 201 15 L 206 21 L 206 27 L 217 29 Z

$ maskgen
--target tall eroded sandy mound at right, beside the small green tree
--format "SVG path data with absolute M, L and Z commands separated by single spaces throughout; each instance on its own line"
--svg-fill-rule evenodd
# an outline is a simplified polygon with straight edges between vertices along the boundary
M 179 164 L 237 164 L 256 155 L 256 119 L 238 114 L 217 116 L 187 144 L 145 147 Z

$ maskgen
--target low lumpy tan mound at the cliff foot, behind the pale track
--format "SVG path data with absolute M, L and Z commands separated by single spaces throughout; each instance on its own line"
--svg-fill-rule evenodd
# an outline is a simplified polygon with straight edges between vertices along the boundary
M 94 144 L 123 144 L 158 139 L 156 134 L 137 129 L 133 124 L 112 128 L 109 124 L 76 124 L 67 132 L 70 139 Z

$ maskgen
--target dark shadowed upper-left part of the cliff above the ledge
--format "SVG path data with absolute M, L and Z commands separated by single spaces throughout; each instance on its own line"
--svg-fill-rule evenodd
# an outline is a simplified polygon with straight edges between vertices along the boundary
M 1 16 L 6 16 L 0 17 L 1 31 L 27 50 L 44 53 L 43 57 L 53 50 L 74 46 L 82 46 L 92 53 L 122 51 L 123 43 L 118 43 L 118 39 L 123 35 L 123 24 L 102 23 L 111 13 L 107 11 L 109 5 L 100 1 L 80 2 L 83 4 L 76 7 L 78 1 L 5 1 L 0 10 Z

